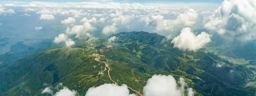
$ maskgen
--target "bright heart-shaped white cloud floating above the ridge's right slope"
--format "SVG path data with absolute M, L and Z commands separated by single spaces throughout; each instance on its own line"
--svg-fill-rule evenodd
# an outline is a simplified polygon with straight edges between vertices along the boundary
M 211 35 L 205 32 L 201 32 L 201 34 L 198 34 L 196 36 L 195 33 L 192 32 L 192 29 L 187 27 L 183 28 L 180 31 L 180 35 L 175 37 L 172 40 L 172 43 L 176 48 L 182 50 L 196 51 L 210 41 Z

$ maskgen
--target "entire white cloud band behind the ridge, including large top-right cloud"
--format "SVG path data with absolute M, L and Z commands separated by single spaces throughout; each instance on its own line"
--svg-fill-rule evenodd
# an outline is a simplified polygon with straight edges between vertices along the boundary
M 17 14 L 36 17 L 35 20 L 41 20 L 38 22 L 60 22 L 66 28 L 65 35 L 69 39 L 64 42 L 67 45 L 75 43 L 70 39 L 73 35 L 82 39 L 100 31 L 105 35 L 120 31 L 148 31 L 171 36 L 168 39 L 173 39 L 174 47 L 196 51 L 211 41 L 211 35 L 208 32 L 195 35 L 192 32 L 195 29 L 207 28 L 228 39 L 255 40 L 256 4 L 253 1 L 224 0 L 219 8 L 215 8 L 217 10 L 159 3 L 8 2 L 0 5 L 0 15 Z

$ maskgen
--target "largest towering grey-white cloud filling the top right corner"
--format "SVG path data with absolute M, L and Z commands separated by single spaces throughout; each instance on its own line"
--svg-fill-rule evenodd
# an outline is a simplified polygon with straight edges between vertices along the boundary
M 204 27 L 223 37 L 241 41 L 256 39 L 255 0 L 224 0 Z

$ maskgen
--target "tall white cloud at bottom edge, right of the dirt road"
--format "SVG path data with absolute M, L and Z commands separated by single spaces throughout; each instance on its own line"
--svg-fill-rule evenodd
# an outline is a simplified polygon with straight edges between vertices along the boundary
M 180 87 L 177 87 L 176 80 L 173 76 L 154 75 L 148 79 L 143 88 L 144 96 L 193 96 L 192 88 L 185 89 L 186 83 L 183 78 L 179 79 Z

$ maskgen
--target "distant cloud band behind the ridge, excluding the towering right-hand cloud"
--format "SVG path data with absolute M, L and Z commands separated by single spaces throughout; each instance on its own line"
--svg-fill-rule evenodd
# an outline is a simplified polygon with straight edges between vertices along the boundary
M 64 25 L 68 26 L 66 34 L 69 36 L 76 34 L 77 38 L 88 32 L 92 34 L 94 31 L 102 31 L 102 34 L 113 34 L 119 31 L 148 31 L 175 37 L 184 27 L 197 28 L 200 15 L 210 13 L 209 10 L 184 6 L 174 8 L 140 3 L 12 2 L 7 5 L 19 7 L 19 13 L 24 12 L 20 16 L 31 16 L 30 14 L 35 12 L 40 15 L 40 20 L 66 24 Z M 31 13 L 27 14 L 28 12 Z M 65 18 L 65 20 L 57 21 L 60 20 L 59 18 Z

